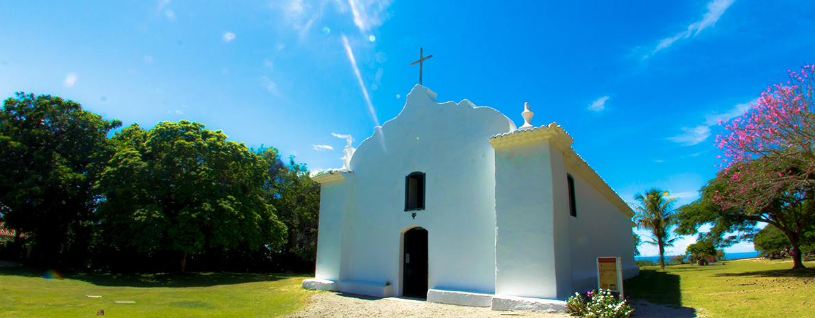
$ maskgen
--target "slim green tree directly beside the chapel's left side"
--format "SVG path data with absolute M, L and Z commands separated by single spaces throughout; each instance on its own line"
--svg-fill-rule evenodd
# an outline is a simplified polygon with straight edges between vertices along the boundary
M 282 249 L 283 266 L 305 269 L 302 264 L 313 264 L 317 255 L 319 184 L 311 180 L 306 164 L 295 163 L 293 156 L 285 165 L 275 148 L 261 148 L 258 153 L 271 163 L 271 178 L 265 187 L 267 201 L 275 206 L 275 214 L 289 231 Z

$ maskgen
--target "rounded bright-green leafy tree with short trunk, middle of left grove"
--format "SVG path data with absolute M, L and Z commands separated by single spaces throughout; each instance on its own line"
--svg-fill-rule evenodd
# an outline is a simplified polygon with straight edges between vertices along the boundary
M 112 139 L 99 217 L 115 246 L 177 252 L 183 272 L 191 253 L 284 242 L 263 198 L 269 163 L 243 144 L 186 120 L 133 124 Z

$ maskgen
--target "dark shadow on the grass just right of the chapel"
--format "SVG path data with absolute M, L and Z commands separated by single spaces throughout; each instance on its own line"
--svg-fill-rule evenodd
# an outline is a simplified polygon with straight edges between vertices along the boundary
M 679 275 L 656 269 L 641 269 L 640 275 L 623 283 L 625 295 L 650 303 L 681 306 L 682 291 Z

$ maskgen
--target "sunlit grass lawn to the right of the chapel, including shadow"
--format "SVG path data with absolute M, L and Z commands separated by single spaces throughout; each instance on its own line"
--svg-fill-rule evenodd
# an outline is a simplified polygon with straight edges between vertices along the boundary
M 709 317 L 815 318 L 815 262 L 792 271 L 789 259 L 742 259 L 711 266 L 643 267 L 626 296 L 698 309 Z

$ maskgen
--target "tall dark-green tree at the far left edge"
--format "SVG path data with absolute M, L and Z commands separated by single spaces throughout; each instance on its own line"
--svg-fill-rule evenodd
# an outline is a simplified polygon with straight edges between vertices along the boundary
M 87 246 L 87 227 L 99 201 L 100 163 L 112 155 L 108 131 L 119 120 L 83 111 L 59 97 L 16 94 L 0 111 L 0 217 L 29 233 L 33 255 L 55 259 Z M 18 242 L 19 243 L 19 242 Z

